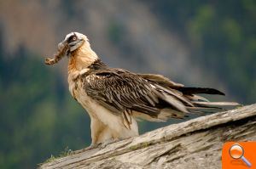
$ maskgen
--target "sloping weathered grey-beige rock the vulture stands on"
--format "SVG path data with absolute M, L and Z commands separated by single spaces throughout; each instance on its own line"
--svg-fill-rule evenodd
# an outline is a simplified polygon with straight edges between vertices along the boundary
M 41 168 L 221 168 L 225 142 L 250 140 L 256 140 L 256 104 L 162 127 L 104 149 L 81 149 Z

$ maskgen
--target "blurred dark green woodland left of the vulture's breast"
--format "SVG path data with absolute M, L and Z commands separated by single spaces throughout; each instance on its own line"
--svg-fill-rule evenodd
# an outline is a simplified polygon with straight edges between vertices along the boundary
M 59 73 L 22 46 L 15 57 L 6 54 L 2 38 L 0 49 L 0 168 L 33 168 L 66 147 L 90 144 L 88 118 Z

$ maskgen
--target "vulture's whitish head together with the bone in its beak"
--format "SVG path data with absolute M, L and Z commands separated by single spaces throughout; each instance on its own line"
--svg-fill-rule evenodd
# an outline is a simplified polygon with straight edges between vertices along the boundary
M 79 32 L 71 32 L 67 34 L 62 42 L 58 44 L 58 53 L 55 54 L 54 59 L 45 59 L 46 65 L 53 65 L 61 60 L 64 56 L 72 56 L 79 48 L 84 50 L 91 50 L 88 38 Z M 86 57 L 86 56 L 84 56 Z

